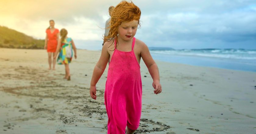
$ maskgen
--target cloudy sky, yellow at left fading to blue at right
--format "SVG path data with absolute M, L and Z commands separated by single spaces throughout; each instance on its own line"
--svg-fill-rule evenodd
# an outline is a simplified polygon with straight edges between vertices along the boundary
M 99 50 L 108 7 L 120 0 L 0 0 L 0 25 L 36 39 L 49 20 L 76 46 Z M 256 0 L 133 0 L 141 10 L 135 37 L 149 47 L 256 49 Z

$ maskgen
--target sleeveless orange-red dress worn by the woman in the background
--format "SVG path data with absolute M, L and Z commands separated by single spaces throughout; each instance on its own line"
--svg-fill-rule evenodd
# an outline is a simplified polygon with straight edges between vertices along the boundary
M 51 32 L 51 29 L 46 29 L 45 33 L 48 36 L 48 42 L 47 42 L 47 52 L 55 52 L 57 49 L 57 35 L 59 33 L 59 29 L 56 29 Z

